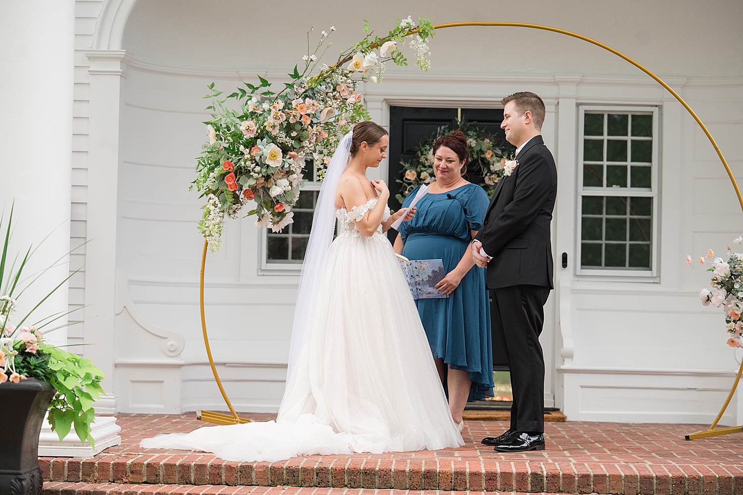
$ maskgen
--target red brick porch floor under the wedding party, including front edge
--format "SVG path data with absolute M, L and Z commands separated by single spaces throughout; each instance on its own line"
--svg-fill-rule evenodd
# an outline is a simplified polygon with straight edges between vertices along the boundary
M 274 415 L 246 417 L 265 421 Z M 394 488 L 743 495 L 743 435 L 685 441 L 684 434 L 704 429 L 698 424 L 547 423 L 547 450 L 499 454 L 479 441 L 484 436 L 499 435 L 507 424 L 466 421 L 466 444 L 458 449 L 239 463 L 225 462 L 209 453 L 137 447 L 140 439 L 159 433 L 185 433 L 208 426 L 196 421 L 193 414 L 120 414 L 117 418 L 123 441 L 119 447 L 111 447 L 91 459 L 39 459 L 48 481 L 46 493 L 118 494 L 144 489 L 154 493 L 163 488 L 141 486 L 150 484 L 169 485 L 166 488 L 174 493 L 201 493 L 207 488 L 207 493 L 233 493 L 235 490 L 228 490 L 228 485 L 250 485 L 387 489 L 385 493 Z M 105 485 L 108 483 L 119 485 Z M 203 489 L 183 485 L 201 485 Z M 325 495 L 327 491 L 317 494 L 321 492 Z

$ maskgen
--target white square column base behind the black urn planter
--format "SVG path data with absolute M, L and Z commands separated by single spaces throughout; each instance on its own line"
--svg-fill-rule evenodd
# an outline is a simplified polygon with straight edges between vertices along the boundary
M 96 416 L 91 425 L 93 430 L 91 436 L 95 447 L 89 441 L 85 444 L 77 438 L 75 429 L 72 428 L 65 439 L 59 441 L 59 436 L 51 430 L 49 422 L 45 419 L 42 431 L 39 433 L 39 457 L 93 457 L 103 449 L 121 444 L 121 437 L 117 434 L 121 427 L 116 424 L 114 416 Z

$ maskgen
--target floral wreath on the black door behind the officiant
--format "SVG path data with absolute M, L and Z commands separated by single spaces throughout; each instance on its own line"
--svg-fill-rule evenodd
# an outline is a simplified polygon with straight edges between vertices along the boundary
M 493 196 L 498 181 L 504 176 L 507 156 L 512 155 L 516 151 L 516 147 L 508 143 L 502 136 L 493 136 L 476 126 L 463 124 L 458 126 L 457 129 L 449 129 L 446 126 L 439 127 L 436 132 L 418 143 L 418 146 L 415 147 L 415 158 L 412 161 L 407 163 L 400 161 L 403 166 L 400 172 L 402 178 L 396 180 L 400 184 L 400 194 L 395 195 L 400 204 L 418 185 L 436 181 L 433 173 L 433 145 L 438 138 L 451 134 L 455 130 L 464 132 L 467 137 L 467 147 L 470 152 L 470 163 L 467 164 L 467 167 L 478 167 L 477 169 L 481 172 L 484 180 L 484 184 L 480 185 L 489 198 Z

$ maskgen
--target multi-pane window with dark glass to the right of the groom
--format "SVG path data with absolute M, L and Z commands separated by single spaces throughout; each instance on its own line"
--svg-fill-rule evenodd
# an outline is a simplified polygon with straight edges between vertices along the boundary
M 580 109 L 580 273 L 655 274 L 658 110 Z

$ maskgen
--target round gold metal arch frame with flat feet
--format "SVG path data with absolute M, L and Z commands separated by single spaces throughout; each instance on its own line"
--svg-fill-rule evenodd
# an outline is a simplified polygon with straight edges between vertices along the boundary
M 733 189 L 735 189 L 736 191 L 736 195 L 738 196 L 738 202 L 741 205 L 741 209 L 743 210 L 743 197 L 741 196 L 741 192 L 738 188 L 738 183 L 736 182 L 736 178 L 733 176 L 733 172 L 730 170 L 730 166 L 727 165 L 727 161 L 725 160 L 725 157 L 722 155 L 722 152 L 720 151 L 719 146 L 717 146 L 715 139 L 710 134 L 710 131 L 707 130 L 707 126 L 704 126 L 704 123 L 702 123 L 701 119 L 697 116 L 695 111 L 691 109 L 691 107 L 687 104 L 687 102 L 685 102 L 684 99 L 681 98 L 681 96 L 679 96 L 678 93 L 676 93 L 676 91 L 674 91 L 669 85 L 667 85 L 663 80 L 661 80 L 660 77 L 656 76 L 651 71 L 649 71 L 647 68 L 643 67 L 643 65 L 640 65 L 640 63 L 635 62 L 635 60 L 629 58 L 629 56 L 626 56 L 620 51 L 614 50 L 614 48 L 611 48 L 608 45 L 604 45 L 603 43 L 597 42 L 595 39 L 591 39 L 591 38 L 588 38 L 587 36 L 582 36 L 580 34 L 573 33 L 571 31 L 566 31 L 566 30 L 559 29 L 559 28 L 552 28 L 550 26 L 543 26 L 539 24 L 528 24 L 525 22 L 450 22 L 447 24 L 434 25 L 433 28 L 434 29 L 458 28 L 462 26 L 502 26 L 502 27 L 512 27 L 512 28 L 531 28 L 531 29 L 541 29 L 545 31 L 552 31 L 553 33 L 560 33 L 560 34 L 565 34 L 566 36 L 572 36 L 577 39 L 583 39 L 583 41 L 596 45 L 600 48 L 603 48 L 606 51 L 610 51 L 612 54 L 625 59 L 627 62 L 631 63 L 632 65 L 635 65 L 635 67 L 639 68 L 640 71 L 643 71 L 645 74 L 649 75 L 656 82 L 658 82 L 658 84 L 663 86 L 663 88 L 666 88 L 666 91 L 672 94 L 673 97 L 675 97 L 675 99 L 678 100 L 678 102 L 681 103 L 682 106 L 684 106 L 684 109 L 687 109 L 687 111 L 691 114 L 691 116 L 694 118 L 696 123 L 698 123 L 699 127 L 701 127 L 702 131 L 704 131 L 704 134 L 707 135 L 707 139 L 709 139 L 710 143 L 712 143 L 712 146 L 715 148 L 715 151 L 717 152 L 717 155 L 720 158 L 722 165 L 725 167 L 725 170 L 727 171 L 727 176 L 730 177 L 730 182 L 733 184 Z M 417 32 L 418 30 L 410 31 L 410 33 L 417 33 Z M 219 380 L 217 369 L 214 366 L 214 359 L 212 358 L 212 351 L 209 347 L 209 337 L 207 337 L 207 320 L 204 315 L 204 267 L 207 262 L 207 247 L 208 247 L 208 242 L 206 239 L 204 239 L 204 251 L 201 254 L 201 279 L 199 281 L 199 297 L 200 297 L 199 302 L 200 302 L 200 307 L 201 307 L 201 329 L 204 333 L 204 346 L 206 346 L 207 348 L 207 355 L 209 356 L 209 363 L 212 366 L 212 373 L 214 373 L 214 379 L 217 382 L 217 386 L 219 387 L 219 391 L 221 392 L 222 397 L 224 398 L 225 404 L 227 404 L 227 408 L 230 410 L 232 414 L 227 415 L 227 414 L 222 414 L 221 412 L 199 410 L 196 413 L 196 418 L 200 419 L 201 421 L 208 421 L 210 423 L 216 423 L 216 424 L 247 423 L 250 420 L 239 417 L 237 412 L 235 412 L 235 409 L 233 408 L 232 404 L 230 403 L 230 398 L 228 398 L 227 393 L 224 392 L 224 386 L 222 386 L 222 382 Z M 738 370 L 738 375 L 736 375 L 736 380 L 733 382 L 733 388 L 730 389 L 730 393 L 727 395 L 727 400 L 723 404 L 720 412 L 718 412 L 718 415 L 715 418 L 715 421 L 713 422 L 713 424 L 707 430 L 698 431 L 697 433 L 691 433 L 690 435 L 684 436 L 685 439 L 687 440 L 702 439 L 702 438 L 710 437 L 710 436 L 727 435 L 729 433 L 743 433 L 743 426 L 729 427 L 729 428 L 716 428 L 718 421 L 720 421 L 720 418 L 722 418 L 722 415 L 724 414 L 725 410 L 727 410 L 727 406 L 730 404 L 730 400 L 733 398 L 733 394 L 735 394 L 736 389 L 738 388 L 741 375 L 743 375 L 743 362 L 741 363 L 740 369 Z

